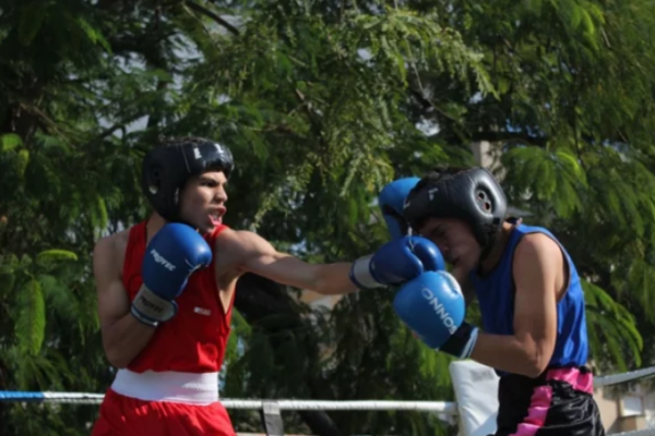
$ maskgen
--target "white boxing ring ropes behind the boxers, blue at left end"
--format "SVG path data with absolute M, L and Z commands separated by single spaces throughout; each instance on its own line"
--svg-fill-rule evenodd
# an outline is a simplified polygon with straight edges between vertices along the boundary
M 595 377 L 594 387 L 612 386 L 655 376 L 655 367 Z M 73 403 L 100 404 L 104 393 L 52 392 L 52 391 L 0 391 L 0 401 L 21 403 Z M 259 410 L 266 420 L 277 420 L 282 425 L 281 411 L 416 411 L 440 415 L 441 419 L 460 414 L 456 402 L 448 401 L 392 401 L 392 400 L 294 400 L 294 399 L 222 399 L 226 409 Z M 282 434 L 269 433 L 267 434 Z M 616 436 L 655 436 L 655 428 L 614 433 Z

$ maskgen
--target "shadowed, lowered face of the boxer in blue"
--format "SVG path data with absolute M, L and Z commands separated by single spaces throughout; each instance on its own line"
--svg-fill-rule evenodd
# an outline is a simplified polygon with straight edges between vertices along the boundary
M 445 262 L 453 266 L 453 272 L 468 274 L 477 266 L 480 246 L 466 222 L 454 218 L 428 218 L 418 233 L 437 244 Z

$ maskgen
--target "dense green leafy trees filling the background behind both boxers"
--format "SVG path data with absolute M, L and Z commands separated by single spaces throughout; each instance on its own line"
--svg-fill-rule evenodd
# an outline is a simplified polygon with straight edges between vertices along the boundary
M 2 8 L 0 389 L 108 386 L 92 247 L 146 217 L 141 158 L 182 134 L 233 149 L 230 226 L 314 262 L 388 239 L 372 203 L 384 183 L 472 164 L 472 141 L 495 142 L 512 203 L 556 232 L 585 279 L 596 362 L 652 359 L 636 331 L 654 326 L 645 1 Z M 293 292 L 240 282 L 223 397 L 452 399 L 450 359 L 412 339 L 392 291 L 345 298 L 330 314 Z M 97 413 L 0 408 L 8 435 L 85 434 Z M 427 414 L 284 416 L 287 431 L 321 435 L 446 432 Z

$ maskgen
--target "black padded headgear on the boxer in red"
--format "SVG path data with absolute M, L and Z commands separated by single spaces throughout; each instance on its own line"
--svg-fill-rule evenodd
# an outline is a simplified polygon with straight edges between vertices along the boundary
M 180 191 L 189 179 L 207 171 L 223 171 L 229 178 L 233 168 L 231 153 L 224 145 L 202 137 L 172 140 L 145 155 L 141 189 L 165 220 L 181 221 Z

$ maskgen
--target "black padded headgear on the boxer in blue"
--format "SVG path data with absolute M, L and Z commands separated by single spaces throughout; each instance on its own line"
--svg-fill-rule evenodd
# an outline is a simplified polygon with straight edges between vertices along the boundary
M 405 199 L 403 216 L 414 232 L 430 217 L 466 221 L 488 253 L 502 229 L 508 203 L 498 181 L 485 168 L 434 171 L 416 184 Z

